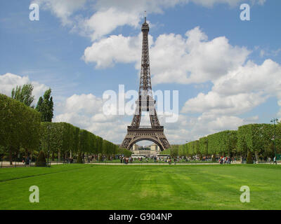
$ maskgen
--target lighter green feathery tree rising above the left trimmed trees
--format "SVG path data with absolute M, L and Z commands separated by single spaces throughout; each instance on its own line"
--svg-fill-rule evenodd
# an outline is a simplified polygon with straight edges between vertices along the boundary
M 32 102 L 34 101 L 34 96 L 32 95 L 33 85 L 32 84 L 25 84 L 13 88 L 12 90 L 12 98 L 22 102 L 26 106 L 31 106 Z M 33 108 L 34 106 L 32 106 Z

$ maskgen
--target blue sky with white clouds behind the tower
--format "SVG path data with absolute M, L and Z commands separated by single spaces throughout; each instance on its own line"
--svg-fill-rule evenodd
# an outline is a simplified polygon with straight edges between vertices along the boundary
M 38 3 L 39 21 L 30 21 Z M 251 20 L 240 20 L 249 3 Z M 2 0 L 0 92 L 51 87 L 53 121 L 120 144 L 132 116 L 103 114 L 103 93 L 138 90 L 143 11 L 150 24 L 153 90 L 178 90 L 164 125 L 183 144 L 281 116 L 280 0 Z M 35 102 L 36 104 L 36 102 Z

